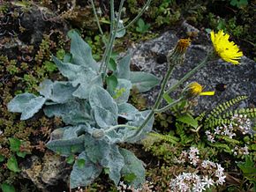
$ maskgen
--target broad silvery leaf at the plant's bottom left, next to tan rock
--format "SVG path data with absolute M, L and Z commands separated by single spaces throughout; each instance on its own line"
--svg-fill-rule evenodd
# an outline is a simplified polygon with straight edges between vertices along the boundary
M 87 186 L 102 173 L 102 166 L 96 165 L 90 161 L 85 152 L 79 154 L 78 159 L 84 159 L 85 164 L 79 167 L 80 160 L 75 162 L 70 177 L 71 188 Z

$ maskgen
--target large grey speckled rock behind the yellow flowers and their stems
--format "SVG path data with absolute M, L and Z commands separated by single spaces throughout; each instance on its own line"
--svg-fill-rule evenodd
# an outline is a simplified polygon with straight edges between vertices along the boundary
M 192 26 L 187 24 L 183 27 L 184 32 L 196 31 Z M 199 31 L 196 31 L 197 33 Z M 177 82 L 184 77 L 189 70 L 192 70 L 207 54 L 207 49 L 211 43 L 206 38 L 205 33 L 199 33 L 196 41 L 188 48 L 186 58 L 182 66 L 177 66 L 171 78 L 169 85 Z M 132 49 L 132 64 L 138 70 L 153 73 L 157 77 L 164 76 L 167 71 L 165 55 L 177 43 L 177 35 L 171 31 L 162 33 L 158 38 L 140 43 Z M 204 40 L 204 41 L 202 41 Z M 200 96 L 198 105 L 194 108 L 195 114 L 210 110 L 217 104 L 226 100 L 231 100 L 239 95 L 247 95 L 248 100 L 242 101 L 240 107 L 255 107 L 256 104 L 256 63 L 243 56 L 239 65 L 225 63 L 221 59 L 213 63 L 207 63 L 207 66 L 199 70 L 192 78 L 188 79 L 184 85 L 192 81 L 197 81 L 200 85 L 205 86 L 205 91 L 215 91 L 214 96 Z M 184 85 L 177 89 L 172 96 L 177 97 Z M 219 89 L 219 86 L 225 85 L 225 89 Z M 150 106 L 153 105 L 160 86 L 155 87 L 145 95 Z

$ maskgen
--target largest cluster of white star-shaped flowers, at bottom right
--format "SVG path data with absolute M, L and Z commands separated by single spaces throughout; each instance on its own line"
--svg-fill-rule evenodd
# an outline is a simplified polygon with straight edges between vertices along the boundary
M 196 166 L 194 173 L 182 173 L 169 182 L 171 192 L 201 192 L 214 185 L 222 185 L 225 175 L 220 164 L 210 160 L 199 159 L 200 151 L 191 147 L 190 150 L 182 151 L 177 159 L 178 163 L 189 161 Z

